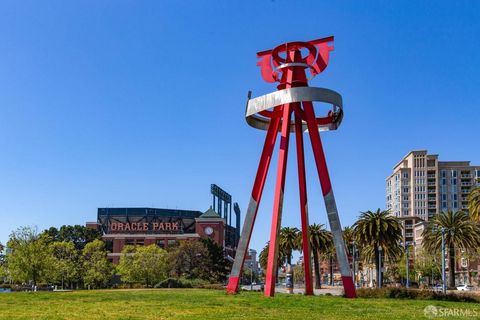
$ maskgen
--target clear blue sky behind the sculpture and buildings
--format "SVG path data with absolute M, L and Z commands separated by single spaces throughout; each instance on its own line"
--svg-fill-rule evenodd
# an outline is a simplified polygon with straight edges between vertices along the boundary
M 344 226 L 385 207 L 385 178 L 412 149 L 480 164 L 479 2 L 327 3 L 2 1 L 0 242 L 98 207 L 204 211 L 211 183 L 244 214 L 265 136 L 245 123 L 246 94 L 276 89 L 255 53 L 287 41 L 335 36 L 311 85 L 344 99 L 342 126 L 322 134 Z M 300 224 L 294 150 L 284 226 Z M 310 220 L 326 223 L 306 150 Z

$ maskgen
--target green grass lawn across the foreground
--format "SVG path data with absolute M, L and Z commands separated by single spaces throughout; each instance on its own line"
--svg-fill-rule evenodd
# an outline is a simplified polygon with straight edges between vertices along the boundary
M 480 305 L 475 303 L 287 294 L 265 298 L 256 292 L 231 296 L 206 289 L 4 293 L 0 294 L 0 318 L 403 320 L 427 319 L 423 309 L 429 305 L 476 310 L 478 317 L 470 319 L 480 318 Z

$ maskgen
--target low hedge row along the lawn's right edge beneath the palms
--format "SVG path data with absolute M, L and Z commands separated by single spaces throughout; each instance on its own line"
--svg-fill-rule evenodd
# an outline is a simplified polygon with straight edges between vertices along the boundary
M 442 300 L 455 302 L 480 302 L 480 296 L 471 293 L 448 292 L 426 289 L 406 288 L 360 288 L 357 290 L 360 298 L 393 298 L 393 299 L 419 299 L 419 300 Z

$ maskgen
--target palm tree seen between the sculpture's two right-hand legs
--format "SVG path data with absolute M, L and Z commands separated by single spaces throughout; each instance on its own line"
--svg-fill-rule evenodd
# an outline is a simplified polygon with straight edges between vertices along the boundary
M 332 234 L 325 229 L 323 224 L 312 224 L 308 226 L 310 236 L 310 248 L 313 254 L 313 269 L 315 272 L 315 289 L 321 288 L 320 264 L 318 256 L 322 252 L 327 252 L 333 245 Z

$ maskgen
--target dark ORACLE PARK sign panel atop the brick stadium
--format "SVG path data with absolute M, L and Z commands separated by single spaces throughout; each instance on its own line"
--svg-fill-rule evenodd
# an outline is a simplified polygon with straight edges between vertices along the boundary
M 154 208 L 99 208 L 98 224 L 103 234 L 195 233 L 195 218 L 202 212 Z

